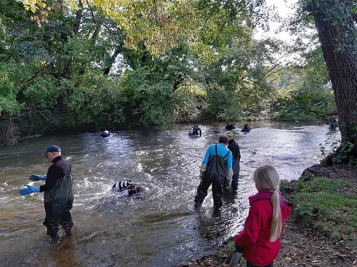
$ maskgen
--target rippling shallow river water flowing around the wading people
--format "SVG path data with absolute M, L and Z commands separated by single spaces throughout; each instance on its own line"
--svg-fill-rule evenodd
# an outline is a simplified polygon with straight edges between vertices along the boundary
M 193 212 L 206 147 L 225 129 L 200 125 L 202 136 L 189 137 L 190 126 L 124 130 L 106 138 L 99 132 L 46 135 L 1 148 L 0 266 L 175 266 L 212 253 L 243 229 L 256 167 L 272 164 L 281 179 L 298 179 L 322 159 L 320 144 L 340 138 L 317 122 L 252 122 L 251 132 L 233 130 L 241 147 L 238 192 L 223 196 L 221 211 L 214 212 L 208 191 L 201 210 Z M 49 145 L 61 147 L 75 179 L 73 234 L 59 244 L 50 243 L 42 224 L 43 194 L 19 194 L 29 174 L 46 174 L 50 163 L 41 152 Z M 145 196 L 111 194 L 124 179 L 146 187 Z

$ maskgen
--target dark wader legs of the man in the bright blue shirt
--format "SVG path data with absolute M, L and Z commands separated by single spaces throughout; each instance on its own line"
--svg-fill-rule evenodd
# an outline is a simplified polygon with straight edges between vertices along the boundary
M 195 202 L 203 203 L 203 199 L 207 196 L 207 190 L 212 184 L 212 195 L 213 195 L 213 204 L 217 208 L 221 208 L 222 206 L 222 186 L 223 186 L 223 179 L 219 177 L 203 177 L 203 180 L 198 185 L 197 194 L 195 197 Z

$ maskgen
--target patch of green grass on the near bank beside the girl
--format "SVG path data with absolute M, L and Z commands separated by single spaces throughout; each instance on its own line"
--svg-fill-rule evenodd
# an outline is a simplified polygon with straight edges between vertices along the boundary
M 356 241 L 356 187 L 343 179 L 314 177 L 296 183 L 293 219 L 331 239 Z

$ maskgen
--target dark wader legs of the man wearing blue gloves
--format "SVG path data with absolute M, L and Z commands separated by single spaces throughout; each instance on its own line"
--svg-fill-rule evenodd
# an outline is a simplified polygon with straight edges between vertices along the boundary
M 56 204 L 56 202 L 44 202 L 46 217 L 44 226 L 47 227 L 47 234 L 51 237 L 56 237 L 59 231 L 59 225 L 64 227 L 64 230 L 69 232 L 73 225 L 71 209 L 73 199 L 66 202 L 65 205 Z

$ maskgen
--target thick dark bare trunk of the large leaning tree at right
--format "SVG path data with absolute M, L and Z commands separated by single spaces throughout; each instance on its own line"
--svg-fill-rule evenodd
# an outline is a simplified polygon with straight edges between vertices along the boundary
M 337 1 L 333 2 L 337 3 Z M 350 4 L 348 0 L 338 2 L 337 4 Z M 315 0 L 311 2 L 310 11 L 315 19 L 323 57 L 335 94 L 341 139 L 345 142 L 344 145 L 346 142 L 353 143 L 354 147 L 350 154 L 357 157 L 357 55 L 353 54 L 352 47 L 348 46 L 348 43 L 343 43 L 344 50 L 338 51 L 336 38 L 341 38 L 344 29 L 333 25 L 333 21 L 318 9 Z M 352 14 L 349 15 L 348 24 L 354 27 Z M 356 31 L 354 34 L 357 38 Z

